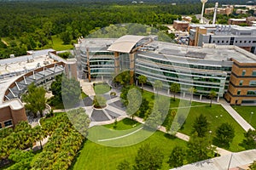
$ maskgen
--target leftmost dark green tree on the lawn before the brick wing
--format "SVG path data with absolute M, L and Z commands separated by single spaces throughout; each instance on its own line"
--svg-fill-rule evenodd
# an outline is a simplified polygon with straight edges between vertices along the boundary
M 206 137 L 206 134 L 209 130 L 210 123 L 207 121 L 207 116 L 200 116 L 195 117 L 195 122 L 193 124 L 193 133 L 197 133 L 198 137 L 203 138 Z

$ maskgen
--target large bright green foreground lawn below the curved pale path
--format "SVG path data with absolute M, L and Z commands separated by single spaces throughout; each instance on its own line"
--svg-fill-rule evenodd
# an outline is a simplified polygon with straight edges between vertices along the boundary
M 118 122 L 117 129 L 129 129 L 133 127 L 134 124 L 138 125 L 137 122 L 125 119 L 124 121 Z M 105 127 L 112 128 L 113 125 L 107 125 Z M 177 138 L 171 139 L 169 136 L 166 136 L 165 133 L 161 133 L 159 131 L 139 144 L 126 147 L 108 147 L 87 140 L 84 142 L 82 150 L 79 151 L 79 156 L 71 169 L 113 170 L 117 167 L 120 161 L 124 160 L 130 161 L 131 164 L 134 164 L 135 156 L 137 156 L 137 150 L 145 143 L 149 143 L 151 146 L 158 146 L 160 150 L 162 150 L 165 158 L 161 169 L 169 169 L 166 161 L 168 160 L 168 156 L 174 146 L 179 145 L 183 148 L 186 147 L 186 142 L 183 140 Z

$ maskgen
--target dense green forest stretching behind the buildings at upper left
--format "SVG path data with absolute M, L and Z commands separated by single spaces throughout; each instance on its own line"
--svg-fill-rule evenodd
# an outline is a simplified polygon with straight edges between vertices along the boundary
M 111 24 L 172 24 L 180 14 L 200 13 L 201 4 L 169 3 L 1 2 L 0 59 L 26 54 L 26 50 L 51 48 L 52 36 L 64 44 L 86 37 L 96 28 Z M 6 43 L 4 38 L 8 39 Z

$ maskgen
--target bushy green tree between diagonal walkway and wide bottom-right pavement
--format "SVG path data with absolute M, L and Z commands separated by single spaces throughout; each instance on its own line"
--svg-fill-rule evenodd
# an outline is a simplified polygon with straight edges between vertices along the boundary
M 199 138 L 196 133 L 191 135 L 188 143 L 187 161 L 189 163 L 202 161 L 211 158 L 216 151 L 208 138 Z

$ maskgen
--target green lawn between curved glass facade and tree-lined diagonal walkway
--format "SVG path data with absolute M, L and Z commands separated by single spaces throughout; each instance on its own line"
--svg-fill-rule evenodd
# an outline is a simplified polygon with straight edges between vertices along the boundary
M 154 94 L 151 92 L 144 91 L 143 93 L 143 97 L 148 99 L 148 101 L 154 99 L 154 97 L 152 96 L 154 96 Z M 167 99 L 167 97 L 165 98 Z M 233 119 L 233 117 L 231 117 L 230 114 L 224 110 L 221 105 L 212 105 L 212 107 L 210 107 L 208 103 L 199 103 L 193 101 L 191 104 L 192 107 L 182 108 L 183 106 L 190 106 L 188 100 L 176 99 L 176 101 L 173 101 L 173 99 L 171 99 L 170 102 L 170 108 L 180 107 L 178 109 L 178 112 L 189 113 L 188 117 L 186 118 L 186 122 L 183 124 L 183 128 L 180 129 L 179 132 L 191 135 L 193 123 L 195 122 L 195 117 L 203 114 L 204 116 L 207 116 L 207 120 L 208 122 L 210 122 L 210 130 L 212 131 L 212 134 L 210 135 L 209 133 L 209 138 L 213 139 L 213 137 L 215 136 L 216 128 L 218 126 L 220 126 L 223 122 L 229 122 L 235 128 L 236 136 L 233 139 L 233 142 L 230 144 L 230 148 L 228 150 L 235 152 L 244 150 L 244 148 L 239 146 L 239 144 L 241 143 L 242 139 L 244 139 L 243 133 L 245 133 L 245 131 Z

